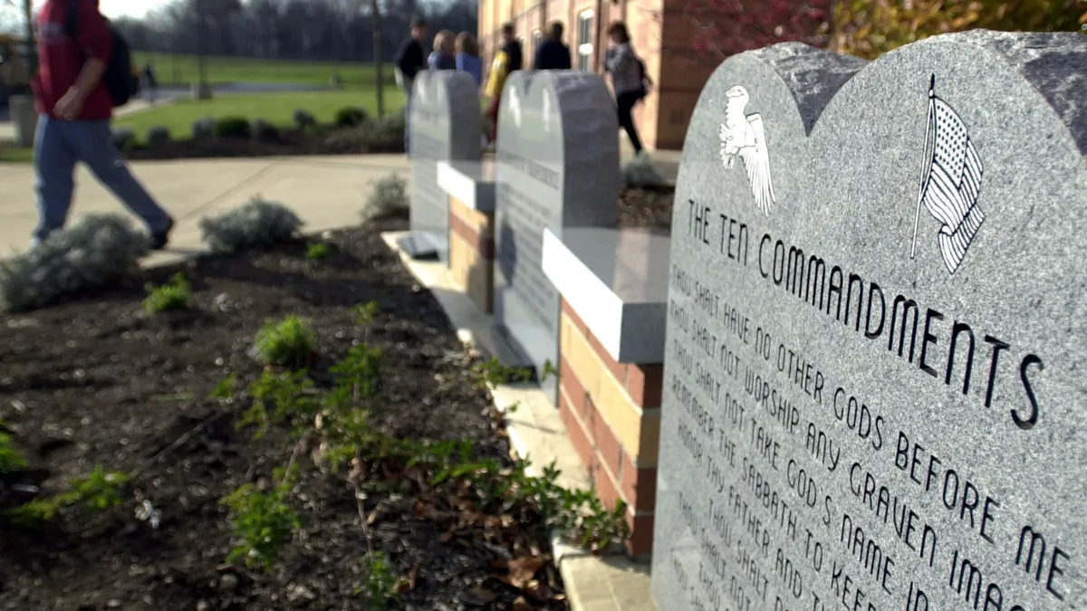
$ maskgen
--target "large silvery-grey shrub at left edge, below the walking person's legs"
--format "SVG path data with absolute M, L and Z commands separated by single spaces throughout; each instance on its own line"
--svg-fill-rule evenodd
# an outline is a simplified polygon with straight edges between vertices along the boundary
M 47 306 L 134 274 L 148 238 L 116 214 L 89 214 L 38 247 L 0 262 L 0 311 Z

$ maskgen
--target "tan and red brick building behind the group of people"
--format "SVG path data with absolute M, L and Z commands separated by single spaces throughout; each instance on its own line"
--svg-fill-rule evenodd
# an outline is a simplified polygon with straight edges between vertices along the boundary
M 687 123 L 702 86 L 720 60 L 705 57 L 691 61 L 671 49 L 689 48 L 694 23 L 684 15 L 686 0 L 479 0 L 479 46 L 484 60 L 493 58 L 503 23 L 514 24 L 525 49 L 525 67 L 540 41 L 540 33 L 552 21 L 561 21 L 564 42 L 570 46 L 575 68 L 603 73 L 608 49 L 608 24 L 623 20 L 630 41 L 646 63 L 653 88 L 645 103 L 635 108 L 635 120 L 646 147 L 683 148 Z

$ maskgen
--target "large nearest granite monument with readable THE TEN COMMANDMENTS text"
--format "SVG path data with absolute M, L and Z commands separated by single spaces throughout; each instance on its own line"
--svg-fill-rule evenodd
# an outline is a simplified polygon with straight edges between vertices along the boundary
M 673 216 L 662 609 L 1087 608 L 1087 37 L 726 60 Z

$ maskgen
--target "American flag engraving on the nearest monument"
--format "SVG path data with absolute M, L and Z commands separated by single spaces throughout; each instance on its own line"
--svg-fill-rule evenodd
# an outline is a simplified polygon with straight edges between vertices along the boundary
M 937 234 L 940 255 L 948 273 L 954 274 L 985 221 L 985 213 L 977 205 L 983 172 L 982 159 L 970 141 L 966 125 L 954 109 L 936 96 L 936 75 L 933 75 L 928 85 L 928 128 L 910 259 L 917 251 L 921 204 L 925 204 L 925 210 L 941 224 Z

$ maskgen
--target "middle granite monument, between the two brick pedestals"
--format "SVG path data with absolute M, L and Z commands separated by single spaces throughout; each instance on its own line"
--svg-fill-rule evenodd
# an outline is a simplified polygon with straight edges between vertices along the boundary
M 498 119 L 495 315 L 552 400 L 559 292 L 540 263 L 544 229 L 614 227 L 619 124 L 602 78 L 578 71 L 515 72 Z

